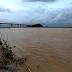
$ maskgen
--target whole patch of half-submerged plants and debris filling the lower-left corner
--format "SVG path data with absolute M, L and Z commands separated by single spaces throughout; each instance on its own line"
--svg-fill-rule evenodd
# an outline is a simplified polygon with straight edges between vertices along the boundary
M 0 33 L 1 34 L 1 33 Z M 27 58 L 16 59 L 15 54 L 12 51 L 10 44 L 7 40 L 2 39 L 2 34 L 0 38 L 0 72 L 18 72 L 18 65 L 25 63 Z M 25 72 L 25 71 L 24 71 Z

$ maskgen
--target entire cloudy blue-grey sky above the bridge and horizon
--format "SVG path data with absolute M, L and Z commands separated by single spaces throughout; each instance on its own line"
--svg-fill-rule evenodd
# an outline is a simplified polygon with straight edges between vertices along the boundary
M 0 22 L 72 26 L 72 0 L 0 0 Z

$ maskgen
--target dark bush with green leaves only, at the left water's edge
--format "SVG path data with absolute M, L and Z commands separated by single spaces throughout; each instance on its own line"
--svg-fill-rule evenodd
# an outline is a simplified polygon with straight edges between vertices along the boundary
M 5 67 L 7 67 L 7 65 L 10 64 L 15 64 L 17 67 L 18 64 L 23 63 L 27 60 L 26 58 L 16 60 L 14 58 L 15 54 L 12 51 L 12 47 L 10 47 L 9 45 L 10 44 L 7 44 L 7 41 L 5 41 L 4 39 L 1 40 L 0 38 L 0 51 L 1 51 L 0 67 L 2 69 L 5 69 Z M 15 47 L 16 46 L 14 46 L 14 48 Z M 9 67 L 6 69 L 9 69 Z

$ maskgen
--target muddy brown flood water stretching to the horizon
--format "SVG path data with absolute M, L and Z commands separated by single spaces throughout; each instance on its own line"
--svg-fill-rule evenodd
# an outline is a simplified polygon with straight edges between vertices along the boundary
M 72 72 L 72 28 L 1 28 L 32 72 Z M 23 68 L 23 67 L 22 67 Z

